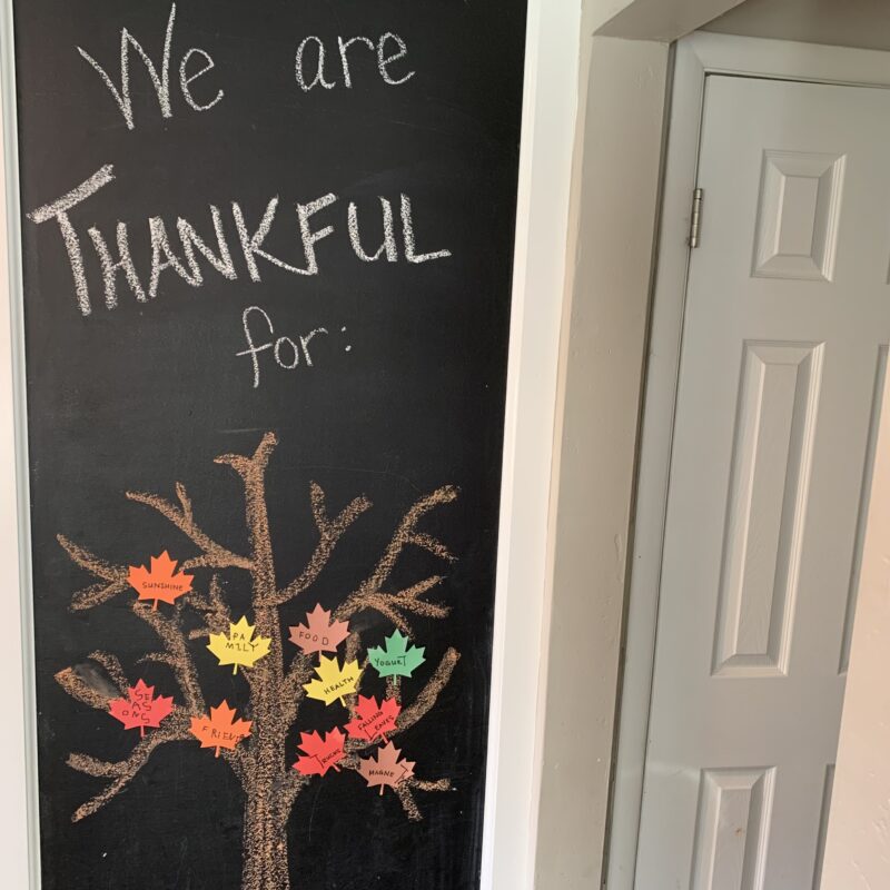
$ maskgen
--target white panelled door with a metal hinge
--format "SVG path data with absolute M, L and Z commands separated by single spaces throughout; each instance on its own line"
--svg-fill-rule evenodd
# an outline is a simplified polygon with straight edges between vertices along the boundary
M 635 887 L 813 890 L 890 340 L 890 91 L 711 76 L 699 186 Z

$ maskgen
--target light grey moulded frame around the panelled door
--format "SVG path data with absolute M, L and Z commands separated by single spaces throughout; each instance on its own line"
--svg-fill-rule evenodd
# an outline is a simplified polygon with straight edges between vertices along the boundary
M 655 660 L 662 546 L 691 248 L 688 236 L 709 75 L 890 88 L 890 53 L 695 32 L 674 60 L 670 131 L 637 467 L 624 662 L 613 761 L 607 890 L 633 890 Z M 704 196 L 703 238 L 708 237 Z

